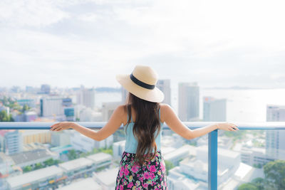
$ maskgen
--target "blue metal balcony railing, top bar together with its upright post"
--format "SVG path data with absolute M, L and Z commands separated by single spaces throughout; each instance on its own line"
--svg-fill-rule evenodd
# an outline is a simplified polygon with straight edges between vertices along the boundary
M 49 130 L 57 122 L 0 122 L 0 130 Z M 106 122 L 76 122 L 93 130 L 100 130 Z M 213 122 L 183 122 L 191 130 L 204 127 Z M 239 130 L 285 130 L 285 122 L 233 122 Z M 167 125 L 163 130 L 170 130 Z M 123 130 L 123 125 L 119 128 Z M 218 132 L 209 133 L 208 138 L 208 189 L 217 190 L 217 150 Z

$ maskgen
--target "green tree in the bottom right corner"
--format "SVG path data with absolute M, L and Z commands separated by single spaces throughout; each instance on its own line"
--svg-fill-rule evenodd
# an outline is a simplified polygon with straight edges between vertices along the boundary
M 271 189 L 285 189 L 285 160 L 275 160 L 264 165 L 266 184 Z

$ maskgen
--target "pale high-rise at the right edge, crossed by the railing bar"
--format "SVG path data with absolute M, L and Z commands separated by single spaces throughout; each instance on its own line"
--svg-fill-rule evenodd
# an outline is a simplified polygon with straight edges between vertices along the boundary
M 267 122 L 284 122 L 285 106 L 267 105 Z M 285 131 L 266 130 L 266 154 L 275 159 L 285 159 Z

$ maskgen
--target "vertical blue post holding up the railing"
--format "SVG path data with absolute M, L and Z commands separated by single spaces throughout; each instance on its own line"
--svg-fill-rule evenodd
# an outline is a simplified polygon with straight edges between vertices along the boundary
M 208 189 L 217 190 L 218 130 L 208 135 Z

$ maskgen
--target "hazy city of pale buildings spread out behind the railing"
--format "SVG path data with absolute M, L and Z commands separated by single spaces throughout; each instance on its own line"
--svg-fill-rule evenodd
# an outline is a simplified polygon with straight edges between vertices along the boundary
M 178 83 L 177 98 L 173 98 L 170 82 L 158 80 L 156 86 L 165 94 L 163 102 L 177 104 L 182 122 L 229 120 L 231 96 L 207 95 L 197 82 L 183 82 Z M 107 122 L 127 94 L 123 88 L 83 85 L 0 88 L 0 121 Z M 264 112 L 266 122 L 285 121 L 284 104 L 268 103 Z M 284 130 L 218 131 L 218 136 L 218 189 L 258 188 L 273 169 L 270 164 L 285 160 Z M 207 135 L 187 140 L 162 130 L 169 189 L 208 189 L 207 144 Z M 124 149 L 124 130 L 100 142 L 75 130 L 0 130 L 0 189 L 115 189 Z

